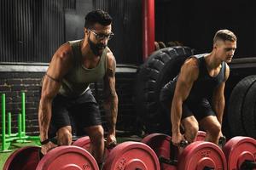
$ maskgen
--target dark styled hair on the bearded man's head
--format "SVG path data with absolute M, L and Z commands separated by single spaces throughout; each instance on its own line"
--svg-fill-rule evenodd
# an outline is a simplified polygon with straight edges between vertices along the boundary
M 105 12 L 101 9 L 96 9 L 96 10 L 93 10 L 90 13 L 86 14 L 85 22 L 84 22 L 85 28 L 90 29 L 96 23 L 99 23 L 102 26 L 108 26 L 112 23 L 112 18 L 107 12 Z

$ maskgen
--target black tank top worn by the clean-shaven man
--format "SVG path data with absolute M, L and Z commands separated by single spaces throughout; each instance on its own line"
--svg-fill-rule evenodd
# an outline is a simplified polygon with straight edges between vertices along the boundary
M 199 102 L 203 98 L 212 99 L 212 93 L 214 89 L 218 88 L 221 82 L 224 82 L 225 80 L 226 63 L 222 62 L 222 66 L 218 75 L 216 77 L 211 77 L 207 71 L 207 63 L 204 56 L 205 54 L 198 54 L 193 56 L 198 59 L 199 76 L 194 82 L 190 94 L 186 99 L 186 101 L 189 103 Z M 174 79 L 168 82 L 161 90 L 160 100 L 172 98 L 177 83 L 177 77 L 174 77 Z

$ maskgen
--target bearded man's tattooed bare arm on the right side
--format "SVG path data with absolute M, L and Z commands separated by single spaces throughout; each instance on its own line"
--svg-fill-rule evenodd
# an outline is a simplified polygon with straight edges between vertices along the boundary
M 116 62 L 113 54 L 108 53 L 108 70 L 104 77 L 104 109 L 108 119 L 108 130 L 115 135 L 115 126 L 118 115 L 118 95 L 115 91 L 115 68 Z

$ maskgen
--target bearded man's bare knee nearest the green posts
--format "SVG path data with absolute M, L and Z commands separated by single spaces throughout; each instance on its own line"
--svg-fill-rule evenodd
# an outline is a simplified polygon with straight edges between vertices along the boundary
M 57 132 L 59 145 L 70 145 L 72 143 L 72 133 L 69 127 L 61 127 Z

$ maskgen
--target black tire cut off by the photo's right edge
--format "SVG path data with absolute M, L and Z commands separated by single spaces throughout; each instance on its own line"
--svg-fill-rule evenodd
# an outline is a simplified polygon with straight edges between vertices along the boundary
M 229 99 L 228 122 L 233 136 L 256 139 L 256 75 L 241 79 L 233 88 Z

